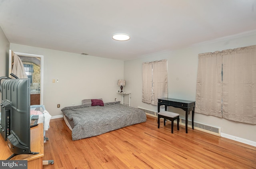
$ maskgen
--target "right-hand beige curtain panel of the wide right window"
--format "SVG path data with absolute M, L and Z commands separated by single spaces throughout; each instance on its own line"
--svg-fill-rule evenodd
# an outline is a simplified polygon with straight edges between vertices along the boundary
M 256 124 L 256 45 L 223 54 L 223 118 Z

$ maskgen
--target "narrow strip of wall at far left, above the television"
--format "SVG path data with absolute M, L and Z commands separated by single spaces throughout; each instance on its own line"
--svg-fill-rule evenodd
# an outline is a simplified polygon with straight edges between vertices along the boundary
M 2 28 L 0 27 L 0 77 L 8 77 L 8 56 L 9 56 L 10 42 L 6 38 Z M 2 95 L 0 93 L 0 98 Z

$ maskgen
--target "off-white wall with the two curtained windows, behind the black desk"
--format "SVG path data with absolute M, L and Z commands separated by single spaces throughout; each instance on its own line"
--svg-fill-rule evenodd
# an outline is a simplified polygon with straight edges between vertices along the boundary
M 256 35 L 222 40 L 169 53 L 148 55 L 147 57 L 142 57 L 140 59 L 124 61 L 124 79 L 126 80 L 125 91 L 131 92 L 131 106 L 157 112 L 157 106 L 146 104 L 141 101 L 143 62 L 167 59 L 168 97 L 183 100 L 196 100 L 198 54 L 222 51 L 224 49 L 234 49 L 249 45 L 256 45 Z M 179 108 L 168 107 L 168 110 L 179 113 L 182 118 L 185 117 L 185 112 Z M 191 114 L 189 115 L 189 120 L 191 120 Z M 195 114 L 194 121 L 220 127 L 222 134 L 256 142 L 256 125 L 232 122 L 223 118 L 197 113 Z

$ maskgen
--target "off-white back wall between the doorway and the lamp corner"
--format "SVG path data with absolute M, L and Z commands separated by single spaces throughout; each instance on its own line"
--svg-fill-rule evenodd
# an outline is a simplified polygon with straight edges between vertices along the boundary
M 61 108 L 81 105 L 82 99 L 103 98 L 104 102 L 121 100 L 116 91 L 123 79 L 124 61 L 92 57 L 51 49 L 11 43 L 16 52 L 44 55 L 44 99 L 46 110 L 62 115 Z M 59 80 L 52 83 L 52 79 Z M 60 104 L 60 108 L 57 108 Z

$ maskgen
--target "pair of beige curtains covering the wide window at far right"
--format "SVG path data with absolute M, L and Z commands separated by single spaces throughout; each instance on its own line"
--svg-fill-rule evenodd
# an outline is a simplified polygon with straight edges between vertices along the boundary
M 195 112 L 256 124 L 256 45 L 199 54 Z

